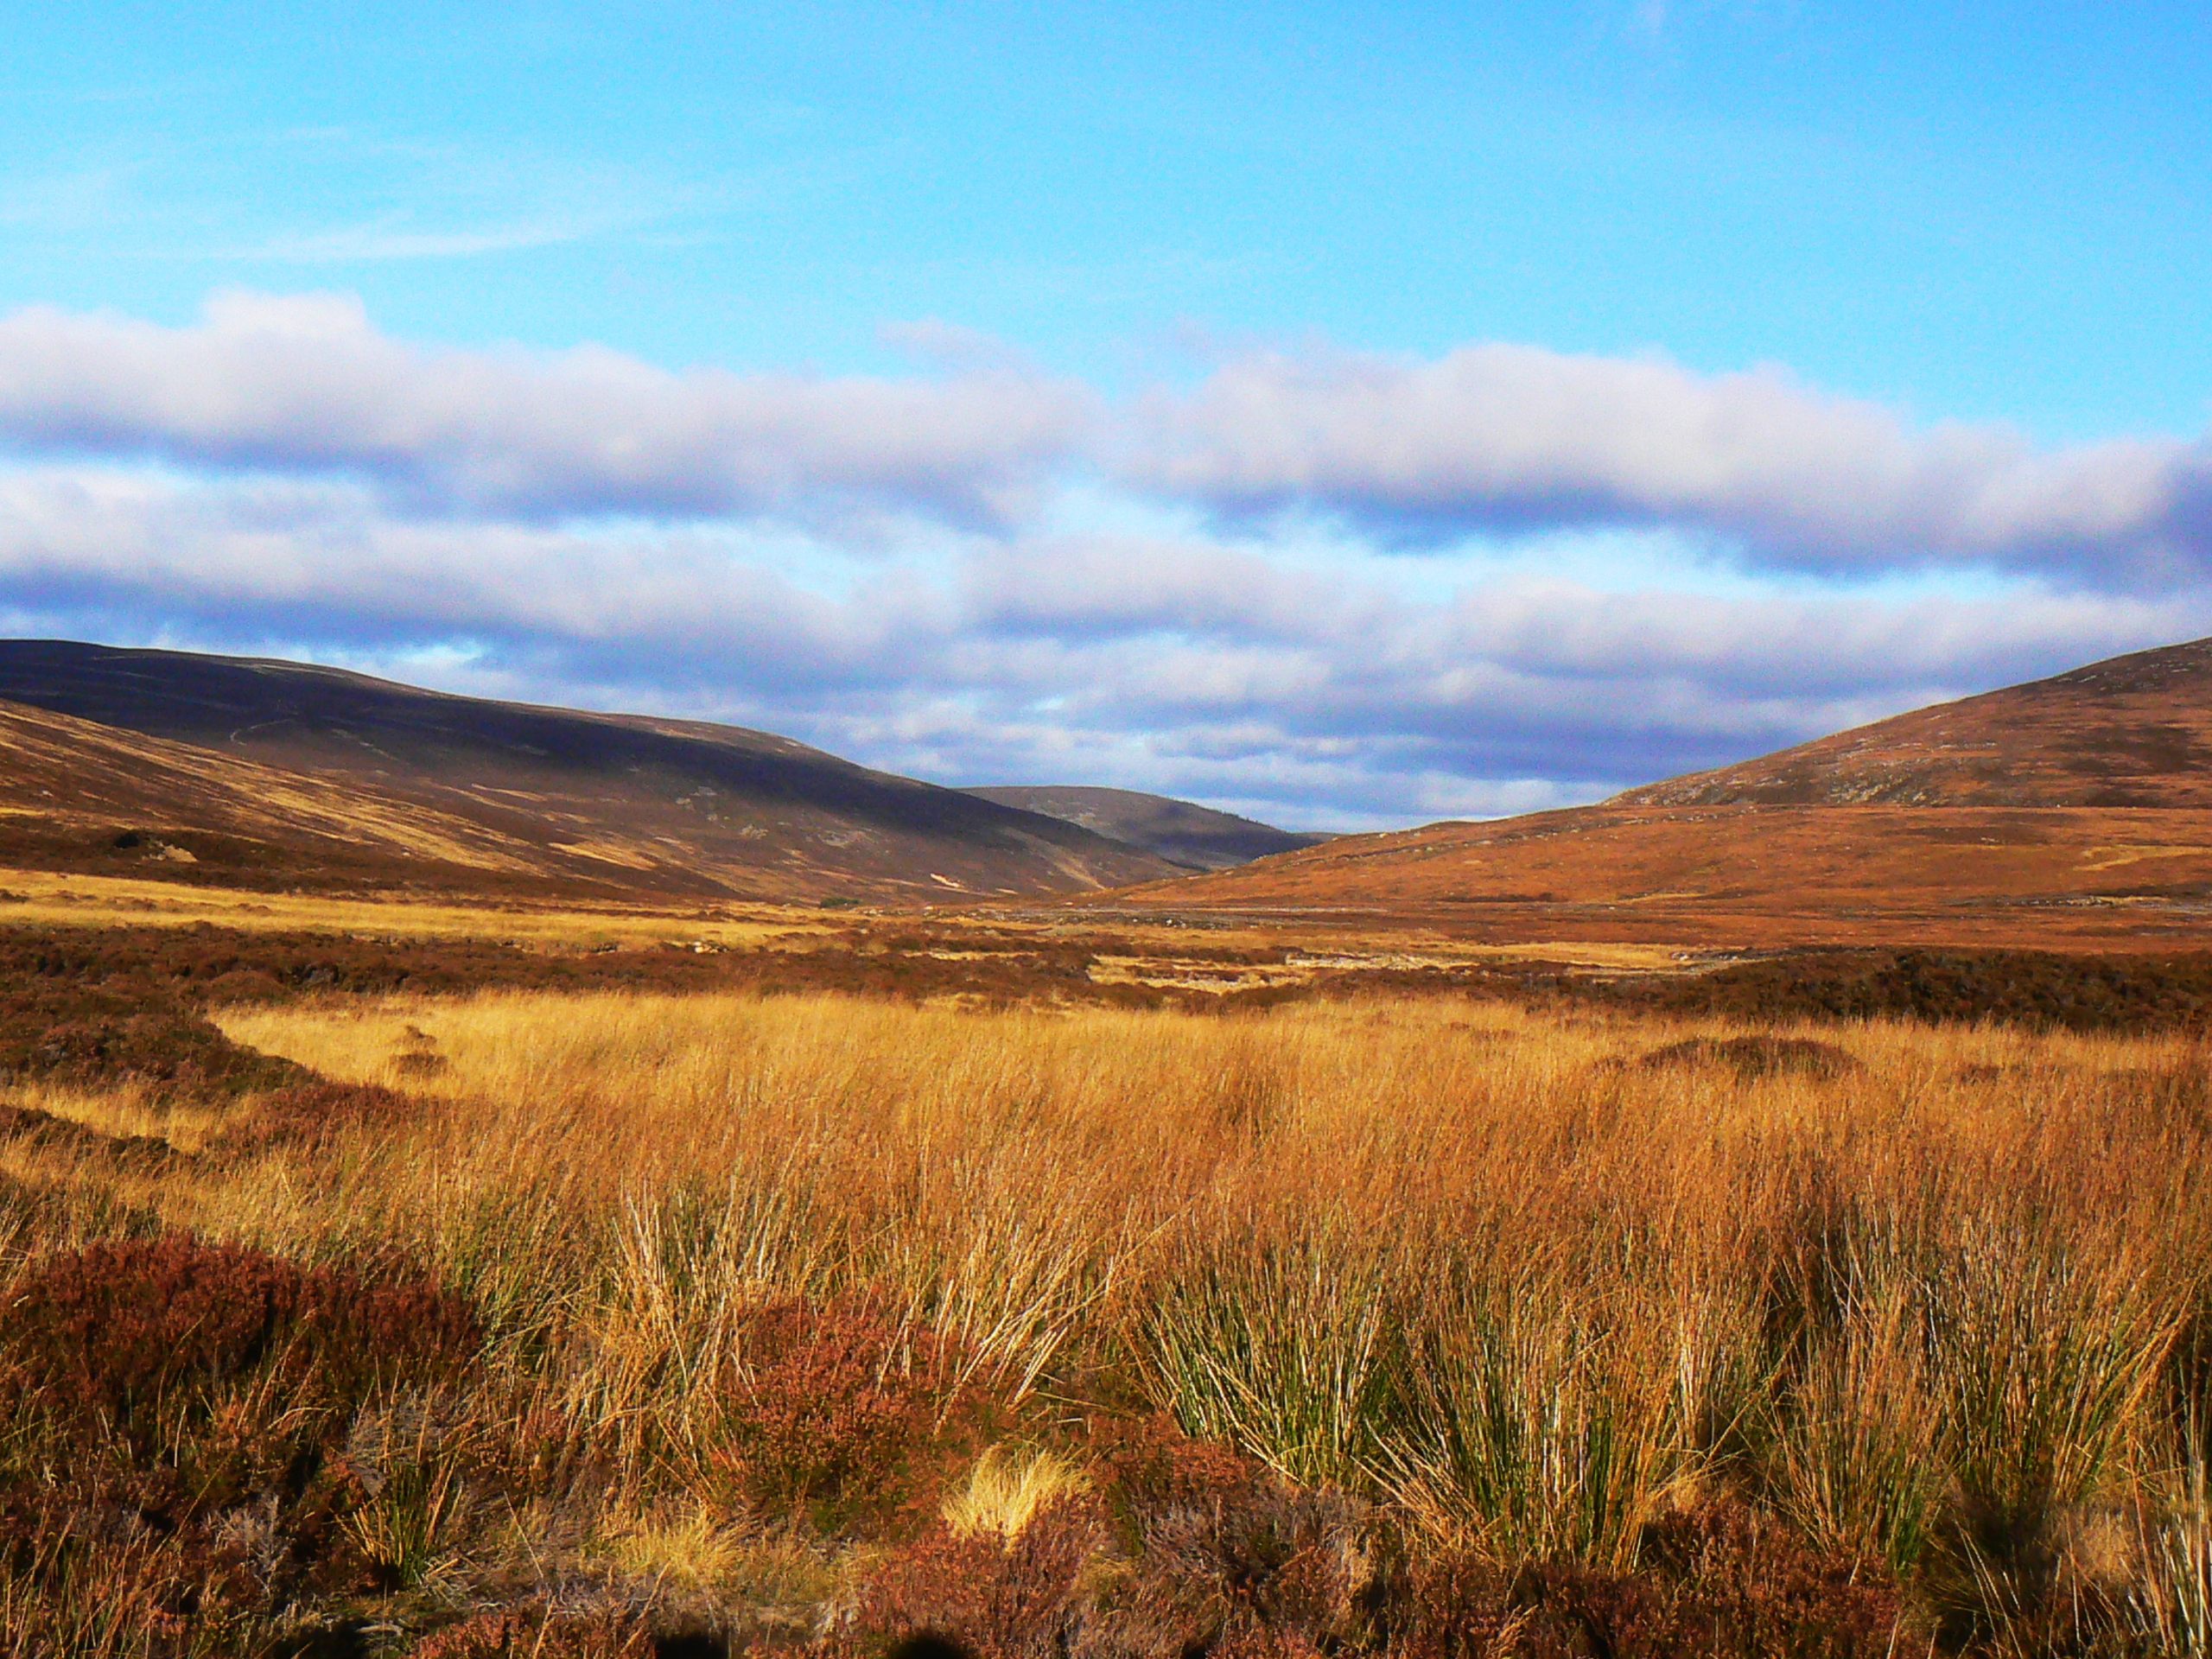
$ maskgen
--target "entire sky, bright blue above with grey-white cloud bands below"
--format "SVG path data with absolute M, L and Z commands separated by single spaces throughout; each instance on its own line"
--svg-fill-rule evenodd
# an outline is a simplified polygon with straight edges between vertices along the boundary
M 2212 635 L 2197 4 L 104 4 L 0 630 L 1292 827 Z

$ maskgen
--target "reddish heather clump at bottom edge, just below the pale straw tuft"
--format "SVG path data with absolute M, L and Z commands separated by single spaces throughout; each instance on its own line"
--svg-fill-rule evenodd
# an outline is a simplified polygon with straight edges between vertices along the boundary
M 860 1588 L 852 1635 L 865 1648 L 936 1635 L 973 1659 L 1057 1659 L 1097 1624 L 1084 1577 L 1108 1540 L 1095 1500 L 1055 1504 L 1011 1542 L 938 1526 Z

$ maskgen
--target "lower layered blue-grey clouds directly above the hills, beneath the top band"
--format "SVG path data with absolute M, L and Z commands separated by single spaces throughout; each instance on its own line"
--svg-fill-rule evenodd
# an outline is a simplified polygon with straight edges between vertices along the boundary
M 1367 827 L 1559 805 L 2199 633 L 2205 595 L 1608 593 L 1018 538 L 823 591 L 728 526 L 392 513 L 332 480 L 0 471 L 11 626 L 763 726 L 953 783 Z

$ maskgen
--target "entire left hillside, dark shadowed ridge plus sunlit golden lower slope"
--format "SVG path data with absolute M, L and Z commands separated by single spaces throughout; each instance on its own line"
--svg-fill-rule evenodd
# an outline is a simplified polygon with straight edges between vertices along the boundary
M 1066 894 L 1175 874 L 1060 818 L 706 721 L 51 639 L 0 641 L 0 701 L 64 717 L 13 714 L 24 743 L 0 752 L 24 847 L 137 834 L 190 849 L 197 834 L 246 843 L 223 867 L 288 883 L 799 900 Z M 128 776 L 126 752 L 157 763 Z M 310 830 L 307 807 L 354 830 Z

